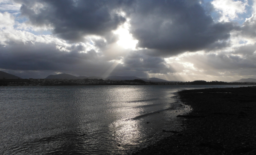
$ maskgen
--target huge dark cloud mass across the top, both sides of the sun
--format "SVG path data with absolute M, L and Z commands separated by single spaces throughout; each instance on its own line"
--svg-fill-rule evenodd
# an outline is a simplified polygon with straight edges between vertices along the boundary
M 52 25 L 53 33 L 63 39 L 81 41 L 84 35 L 96 34 L 115 41 L 109 32 L 130 18 L 130 32 L 139 40 L 138 46 L 165 55 L 225 47 L 229 32 L 237 29 L 232 22 L 214 23 L 204 9 L 211 7 L 203 8 L 198 0 L 38 2 L 44 7 L 34 11 L 36 1 L 22 1 L 22 15 L 35 25 Z M 117 11 L 124 11 L 126 17 Z

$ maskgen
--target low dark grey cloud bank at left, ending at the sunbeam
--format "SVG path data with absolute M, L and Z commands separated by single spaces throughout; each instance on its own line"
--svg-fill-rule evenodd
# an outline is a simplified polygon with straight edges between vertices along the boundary
M 100 53 L 93 50 L 79 53 L 83 47 L 76 46 L 71 47 L 71 52 L 65 52 L 59 51 L 55 46 L 55 44 L 36 43 L 0 47 L 0 68 L 56 71 L 92 76 L 103 74 L 112 65 L 102 59 Z

